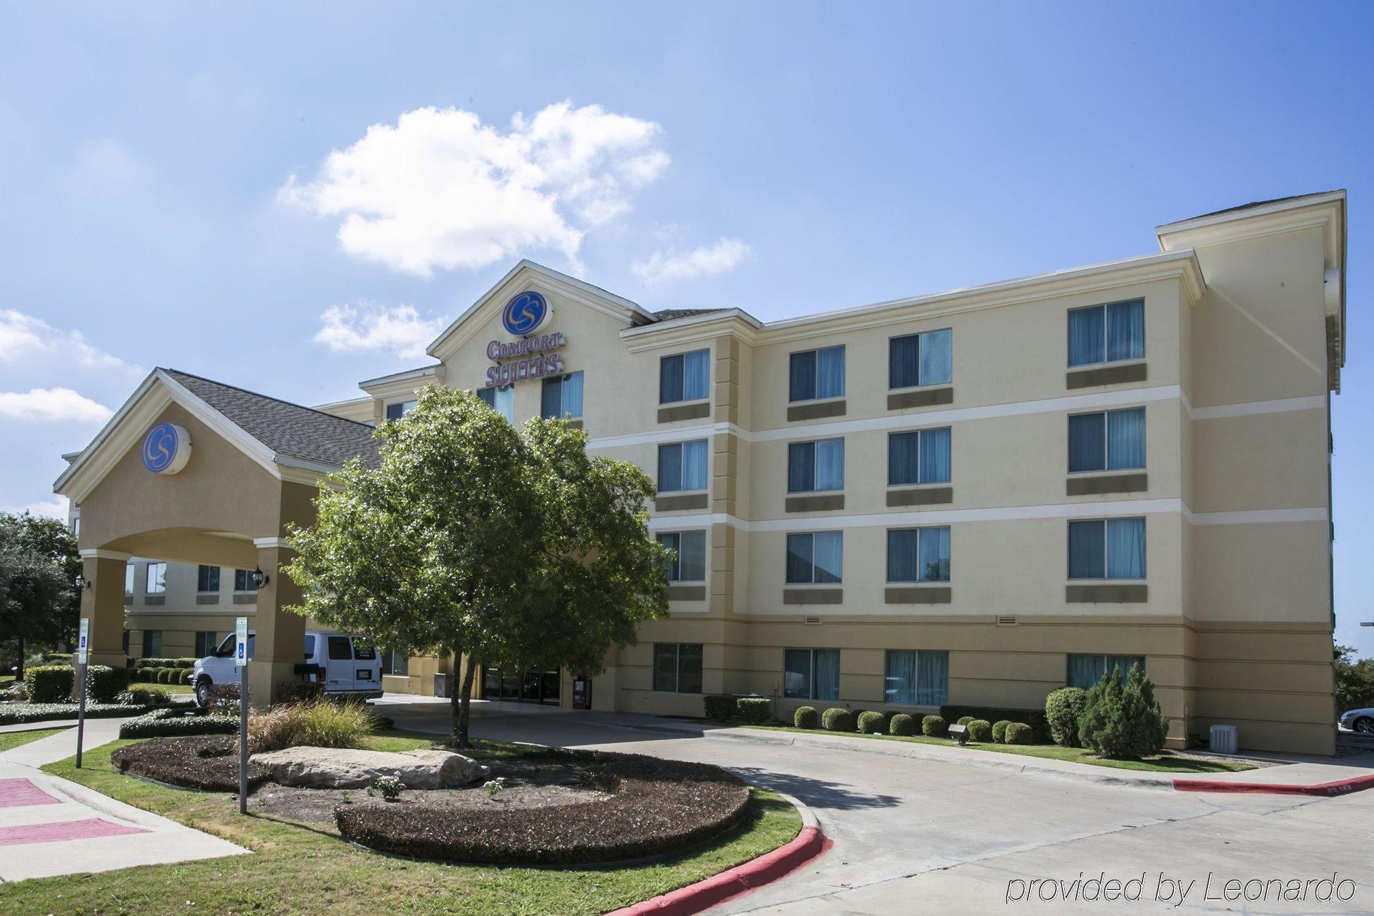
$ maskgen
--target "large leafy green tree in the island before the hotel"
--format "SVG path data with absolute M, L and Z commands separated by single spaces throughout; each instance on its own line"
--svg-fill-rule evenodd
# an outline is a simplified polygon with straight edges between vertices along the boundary
M 515 429 L 466 391 L 429 386 L 383 425 L 381 464 L 352 462 L 322 487 L 317 519 L 291 534 L 290 608 L 378 644 L 470 659 L 453 690 L 467 744 L 478 663 L 595 675 L 640 622 L 668 609 L 649 534 L 653 481 L 587 455 L 562 421 Z

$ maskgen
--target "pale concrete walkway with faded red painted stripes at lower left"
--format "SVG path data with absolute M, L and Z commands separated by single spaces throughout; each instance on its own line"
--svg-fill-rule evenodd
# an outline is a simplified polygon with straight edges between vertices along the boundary
M 85 750 L 115 740 L 122 721 L 87 722 Z M 38 769 L 76 750 L 70 728 L 0 754 L 0 882 L 249 851 Z

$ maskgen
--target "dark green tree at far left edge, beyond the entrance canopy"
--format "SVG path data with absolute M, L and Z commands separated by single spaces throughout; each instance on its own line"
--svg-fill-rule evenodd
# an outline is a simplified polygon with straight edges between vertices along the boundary
M 76 538 L 56 519 L 0 513 L 0 645 L 23 677 L 27 645 L 70 641 L 81 613 Z

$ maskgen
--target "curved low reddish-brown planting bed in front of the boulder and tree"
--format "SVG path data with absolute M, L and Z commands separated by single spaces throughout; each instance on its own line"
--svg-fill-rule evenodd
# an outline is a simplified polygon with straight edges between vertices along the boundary
M 569 754 L 562 762 L 576 765 L 583 787 L 609 798 L 545 807 L 466 805 L 458 811 L 416 792 L 409 803 L 341 805 L 334 821 L 345 839 L 398 855 L 580 865 L 697 846 L 738 824 L 749 807 L 745 783 L 708 763 L 638 754 Z M 492 761 L 492 774 L 507 776 L 514 763 Z

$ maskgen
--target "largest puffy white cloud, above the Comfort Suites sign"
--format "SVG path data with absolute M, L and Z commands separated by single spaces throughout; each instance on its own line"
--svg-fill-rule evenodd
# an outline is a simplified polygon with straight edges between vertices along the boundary
M 559 102 L 510 129 L 462 109 L 416 109 L 334 150 L 313 182 L 293 175 L 279 198 L 342 217 L 356 257 L 422 276 L 477 268 L 534 249 L 574 265 L 583 235 L 631 209 L 668 166 L 653 121 Z

